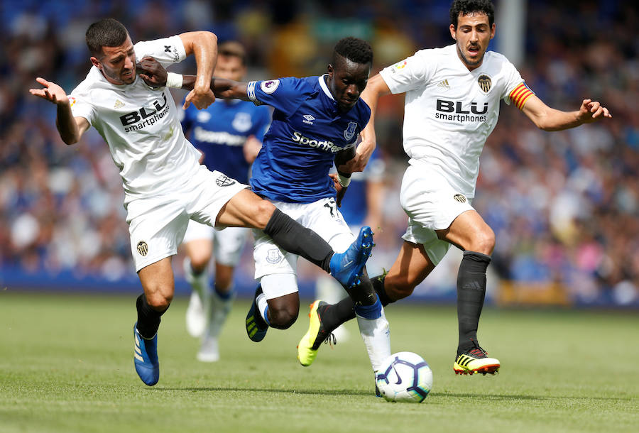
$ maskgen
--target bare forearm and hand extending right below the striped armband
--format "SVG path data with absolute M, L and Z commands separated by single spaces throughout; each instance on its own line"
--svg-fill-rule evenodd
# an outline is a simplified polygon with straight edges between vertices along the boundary
M 611 119 L 612 115 L 605 106 L 591 99 L 584 99 L 577 111 L 552 109 L 534 94 L 528 98 L 522 111 L 537 128 L 544 131 L 562 131 L 582 124 L 591 124 L 601 119 Z

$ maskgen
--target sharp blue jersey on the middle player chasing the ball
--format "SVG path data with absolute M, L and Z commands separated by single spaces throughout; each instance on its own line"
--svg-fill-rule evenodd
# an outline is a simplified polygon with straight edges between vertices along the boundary
M 271 128 L 253 163 L 251 187 L 263 197 L 310 203 L 334 197 L 335 153 L 352 146 L 371 117 L 361 99 L 340 113 L 324 76 L 250 82 L 249 99 L 273 106 Z

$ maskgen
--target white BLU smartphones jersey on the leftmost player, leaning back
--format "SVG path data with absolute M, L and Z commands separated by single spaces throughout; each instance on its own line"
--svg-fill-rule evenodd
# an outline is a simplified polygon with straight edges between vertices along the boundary
M 138 42 L 136 59 L 155 57 L 164 67 L 185 59 L 179 36 Z M 168 89 L 108 82 L 97 67 L 71 93 L 73 116 L 84 117 L 109 144 L 120 171 L 125 204 L 136 197 L 166 194 L 186 182 L 200 154 L 187 141 Z

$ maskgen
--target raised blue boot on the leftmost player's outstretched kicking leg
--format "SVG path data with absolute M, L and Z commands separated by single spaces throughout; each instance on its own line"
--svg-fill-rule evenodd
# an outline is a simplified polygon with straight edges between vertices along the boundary
M 373 249 L 373 231 L 364 226 L 359 230 L 359 236 L 344 253 L 334 253 L 331 258 L 331 275 L 348 289 L 359 284 L 362 269 Z

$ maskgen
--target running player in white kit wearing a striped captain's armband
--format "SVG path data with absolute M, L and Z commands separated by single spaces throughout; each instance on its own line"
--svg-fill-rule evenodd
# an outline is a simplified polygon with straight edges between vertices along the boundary
M 471 202 L 479 155 L 497 123 L 499 102 L 503 99 L 513 104 L 545 131 L 574 128 L 611 115 L 590 99 L 584 99 L 577 111 L 551 109 L 528 88 L 506 57 L 486 51 L 495 35 L 490 1 L 455 0 L 450 19 L 454 45 L 419 50 L 369 80 L 361 97 L 373 114 L 361 134 L 356 157 L 348 165 L 352 171 L 364 168 L 376 146 L 378 98 L 405 93 L 403 146 L 410 165 L 403 177 L 400 202 L 408 214 L 408 229 L 391 270 L 371 280 L 382 305 L 388 305 L 413 293 L 451 244 L 461 248 L 464 258 L 457 275 L 459 344 L 453 368 L 457 374 L 485 375 L 500 367 L 498 359 L 488 357 L 477 341 L 495 234 Z M 322 322 L 316 343 L 353 317 L 349 301 L 328 305 L 319 312 L 321 319 L 311 317 Z M 305 345 L 298 351 L 315 356 L 317 349 L 319 344 Z

